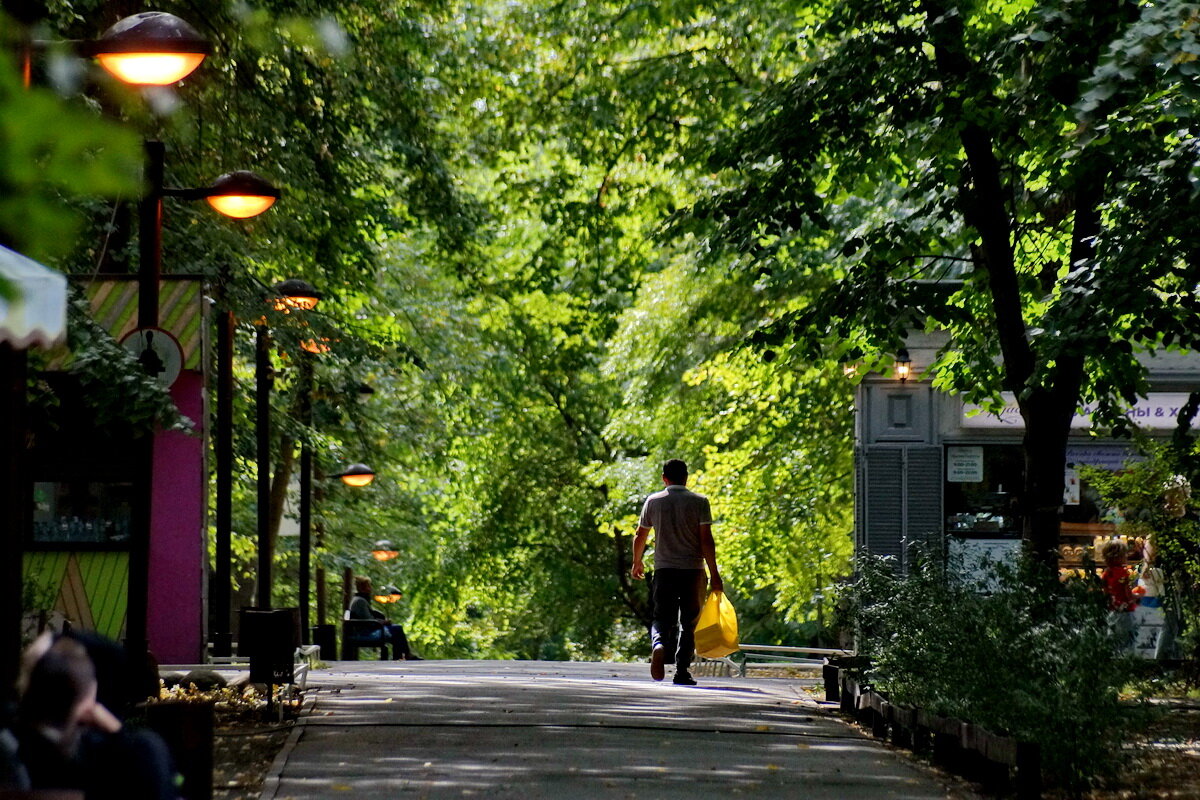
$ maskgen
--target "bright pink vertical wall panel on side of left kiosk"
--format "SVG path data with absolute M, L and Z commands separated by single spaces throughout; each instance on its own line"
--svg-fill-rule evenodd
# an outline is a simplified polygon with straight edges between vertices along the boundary
M 204 425 L 204 379 L 184 369 L 170 389 L 176 408 Z M 150 597 L 146 632 L 160 663 L 204 655 L 204 438 L 160 433 L 154 450 Z

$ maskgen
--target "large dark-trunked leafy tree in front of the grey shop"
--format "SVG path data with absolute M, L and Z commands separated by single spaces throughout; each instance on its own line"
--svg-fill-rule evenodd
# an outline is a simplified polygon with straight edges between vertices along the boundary
M 796 78 L 714 151 L 730 184 L 680 224 L 791 287 L 760 344 L 886 353 L 936 326 L 936 385 L 1013 392 L 1045 576 L 1081 399 L 1120 427 L 1136 353 L 1200 342 L 1194 22 L 1176 2 L 822 7 Z

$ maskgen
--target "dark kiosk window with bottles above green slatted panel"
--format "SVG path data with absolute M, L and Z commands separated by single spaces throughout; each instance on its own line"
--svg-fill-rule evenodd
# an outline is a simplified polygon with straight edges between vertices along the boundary
M 132 483 L 82 480 L 34 483 L 34 543 L 126 543 L 132 507 Z

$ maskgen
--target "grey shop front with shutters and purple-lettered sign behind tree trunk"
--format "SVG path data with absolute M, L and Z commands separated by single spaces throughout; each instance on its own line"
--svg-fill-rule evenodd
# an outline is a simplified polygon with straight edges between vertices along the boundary
M 1024 421 L 1012 397 L 1000 413 L 989 413 L 923 380 L 943 342 L 911 339 L 912 377 L 870 374 L 856 397 L 856 547 L 892 555 L 905 570 L 918 542 L 967 561 L 1008 560 L 1020 547 Z M 1128 415 L 1165 435 L 1188 392 L 1200 389 L 1200 356 L 1166 354 L 1147 366 L 1151 391 Z M 1079 468 L 1120 469 L 1136 458 L 1130 443 L 1092 435 L 1087 408 L 1072 427 L 1060 545 L 1064 571 L 1093 560 L 1096 545 L 1116 528 L 1115 511 L 1104 507 Z

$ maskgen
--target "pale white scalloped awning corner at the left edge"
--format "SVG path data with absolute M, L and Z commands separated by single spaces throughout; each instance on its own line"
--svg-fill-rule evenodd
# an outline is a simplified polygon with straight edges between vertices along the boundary
M 67 330 L 67 279 L 31 258 L 0 245 L 0 282 L 14 290 L 0 297 L 0 343 L 18 350 L 49 347 Z

